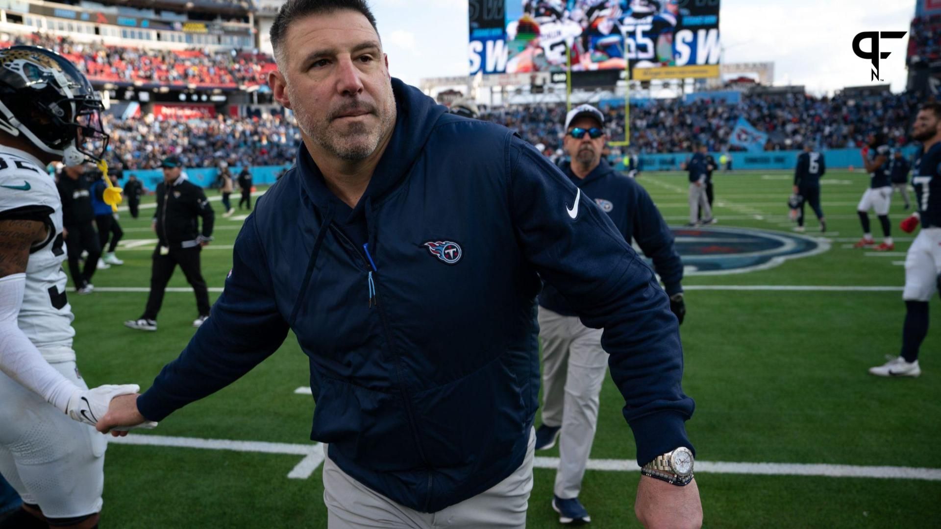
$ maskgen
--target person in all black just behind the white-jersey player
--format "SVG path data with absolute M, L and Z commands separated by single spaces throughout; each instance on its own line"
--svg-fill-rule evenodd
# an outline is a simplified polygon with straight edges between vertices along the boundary
M 95 219 L 95 210 L 91 206 L 91 178 L 83 166 L 65 167 L 58 175 L 56 187 L 62 199 L 62 234 L 69 252 L 69 274 L 75 292 L 91 294 L 95 288 L 91 284 L 91 276 L 95 275 L 98 259 L 102 256 L 98 233 L 91 226 Z M 88 251 L 84 268 L 78 263 L 82 251 Z

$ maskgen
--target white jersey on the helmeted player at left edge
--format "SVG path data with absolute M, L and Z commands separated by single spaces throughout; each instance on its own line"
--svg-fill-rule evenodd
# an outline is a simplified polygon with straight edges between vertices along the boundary
M 72 306 L 66 298 L 62 201 L 40 160 L 0 146 L 0 219 L 42 219 L 48 236 L 30 250 L 18 324 L 46 361 L 74 361 Z

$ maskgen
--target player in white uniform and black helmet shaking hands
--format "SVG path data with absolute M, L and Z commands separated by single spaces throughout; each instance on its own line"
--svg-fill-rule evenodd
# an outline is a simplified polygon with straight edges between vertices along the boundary
M 134 384 L 88 390 L 72 350 L 62 204 L 46 166 L 100 159 L 101 100 L 66 58 L 0 50 L 0 473 L 23 498 L 0 527 L 97 527 L 104 436 Z

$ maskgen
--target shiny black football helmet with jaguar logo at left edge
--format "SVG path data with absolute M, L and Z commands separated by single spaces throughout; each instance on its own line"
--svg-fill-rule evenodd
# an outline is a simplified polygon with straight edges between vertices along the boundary
M 102 110 L 88 77 L 64 56 L 38 46 L 0 49 L 0 130 L 77 166 L 107 149 Z

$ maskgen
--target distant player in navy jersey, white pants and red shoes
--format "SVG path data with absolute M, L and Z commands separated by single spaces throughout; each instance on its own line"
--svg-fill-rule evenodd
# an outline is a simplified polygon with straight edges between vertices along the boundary
M 862 200 L 856 207 L 859 220 L 863 225 L 863 238 L 855 244 L 855 248 L 869 248 L 875 246 L 872 232 L 869 230 L 869 209 L 876 212 L 883 227 L 885 241 L 873 248 L 876 251 L 889 251 L 895 249 L 892 243 L 892 228 L 888 219 L 888 207 L 892 201 L 892 183 L 889 182 L 888 155 L 891 151 L 885 144 L 885 135 L 881 132 L 870 134 L 866 138 L 867 149 L 863 151 L 863 166 L 869 173 L 869 189 L 863 194 Z

